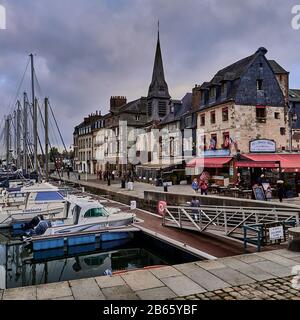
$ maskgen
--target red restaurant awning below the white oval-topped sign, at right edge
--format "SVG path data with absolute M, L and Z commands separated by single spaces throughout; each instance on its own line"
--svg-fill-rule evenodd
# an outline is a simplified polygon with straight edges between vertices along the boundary
M 236 167 L 279 168 L 284 172 L 300 172 L 300 154 L 245 154 L 246 161 L 235 163 Z M 249 161 L 250 160 L 250 161 Z

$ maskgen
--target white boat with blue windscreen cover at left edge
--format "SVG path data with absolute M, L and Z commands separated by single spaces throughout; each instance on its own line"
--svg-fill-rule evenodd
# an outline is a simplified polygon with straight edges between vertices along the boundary
M 18 221 L 28 221 L 38 214 L 62 218 L 65 199 L 57 187 L 50 183 L 26 186 L 19 191 L 6 193 L 0 209 L 0 228 L 7 228 Z

